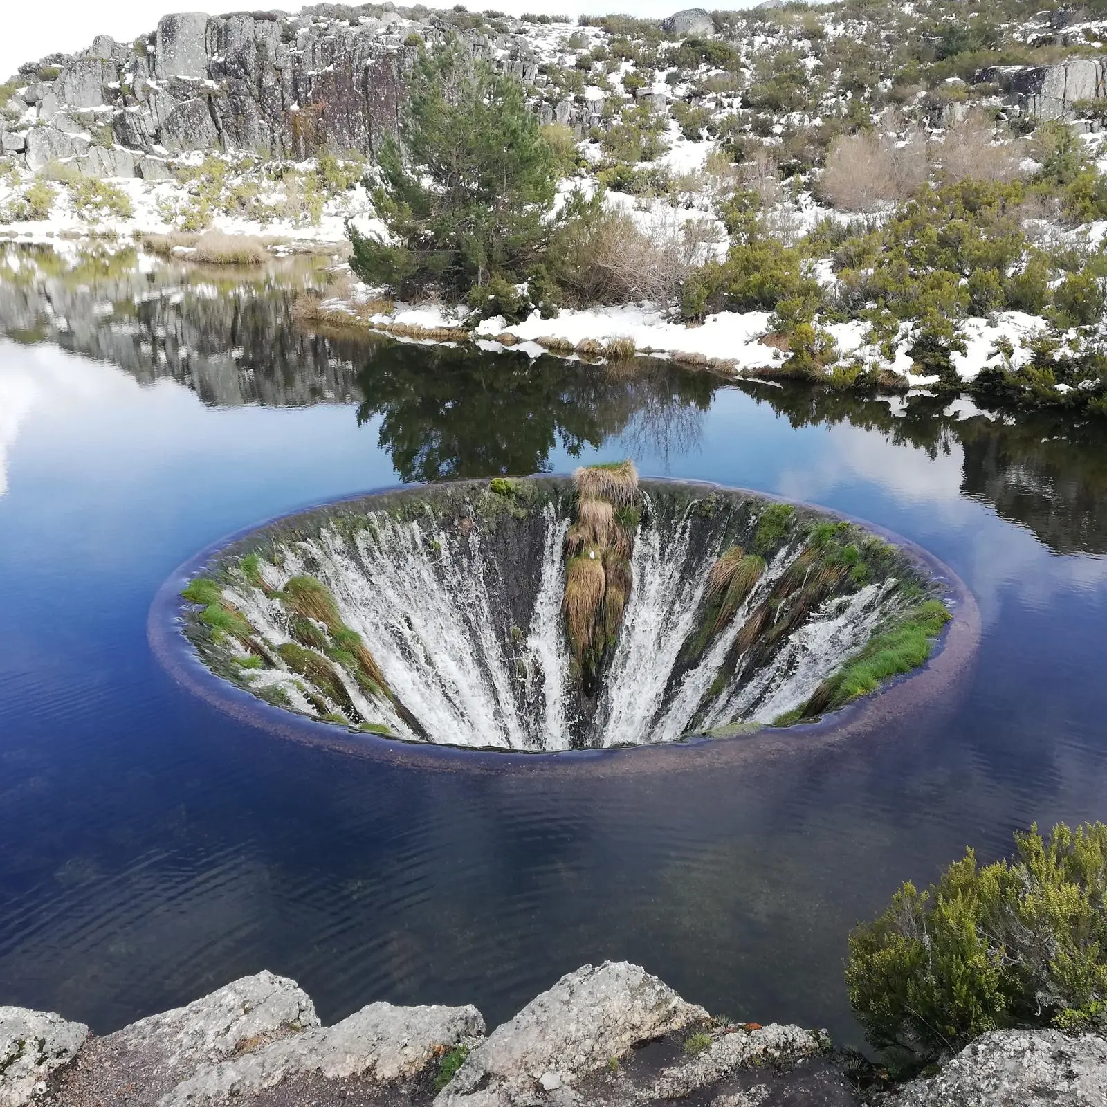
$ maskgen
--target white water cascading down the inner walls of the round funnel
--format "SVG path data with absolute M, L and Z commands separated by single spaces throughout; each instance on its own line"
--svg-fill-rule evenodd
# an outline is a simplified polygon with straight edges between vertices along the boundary
M 863 586 L 842 577 L 827 600 L 770 640 L 767 653 L 758 646 L 761 660 L 751 666 L 747 656 L 732 655 L 737 637 L 765 610 L 805 554 L 810 527 L 825 517 L 796 523 L 726 627 L 707 634 L 711 568 L 732 546 L 756 548 L 765 505 L 758 500 L 751 510 L 746 494 L 735 493 L 708 510 L 695 497 L 665 495 L 664 487 L 643 489 L 632 586 L 596 700 L 579 686 L 565 631 L 572 508 L 550 495 L 525 508 L 499 503 L 495 516 L 468 505 L 458 510 L 456 503 L 448 513 L 423 504 L 414 511 L 370 509 L 355 526 L 315 518 L 275 534 L 255 567 L 261 581 L 251 576 L 249 583 L 235 561 L 221 580 L 220 594 L 260 644 L 223 640 L 219 671 L 293 711 L 413 741 L 519 751 L 674 742 L 693 724 L 767 723 L 803 706 L 902 609 L 900 583 L 913 581 L 915 597 L 925 591 L 920 584 L 931 586 L 900 551 L 883 547 L 884 560 L 872 562 L 882 566 L 876 577 Z M 314 578 L 348 630 L 334 629 L 333 614 L 330 630 L 306 628 L 282 594 L 294 577 Z M 328 638 L 338 631 L 360 635 L 383 691 Z M 293 641 L 294 649 L 287 645 Z M 303 661 L 312 655 L 323 676 Z

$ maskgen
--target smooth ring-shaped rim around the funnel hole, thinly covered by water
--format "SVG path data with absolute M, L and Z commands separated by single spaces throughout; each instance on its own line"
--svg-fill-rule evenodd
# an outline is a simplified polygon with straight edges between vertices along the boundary
M 963 689 L 972 672 L 981 637 L 980 610 L 975 597 L 964 581 L 925 547 L 879 524 L 821 504 L 793 499 L 756 488 L 724 485 L 714 480 L 645 475 L 641 477 L 643 484 L 669 484 L 707 492 L 757 496 L 773 503 L 818 511 L 830 519 L 845 520 L 862 527 L 896 546 L 940 586 L 940 598 L 950 611 L 951 618 L 935 639 L 930 658 L 910 673 L 892 677 L 868 695 L 852 700 L 811 722 L 794 723 L 783 727 L 764 724 L 742 734 L 693 735 L 676 742 L 646 742 L 632 746 L 590 749 L 529 751 L 430 743 L 354 732 L 334 723 L 300 715 L 286 707 L 266 703 L 218 675 L 205 664 L 196 648 L 185 635 L 184 612 L 188 603 L 180 596 L 182 589 L 229 547 L 251 535 L 303 516 L 397 492 L 417 495 L 420 489 L 484 487 L 490 479 L 493 478 L 477 477 L 382 485 L 365 492 L 307 504 L 216 539 L 179 565 L 155 593 L 146 624 L 147 641 L 155 658 L 169 676 L 186 691 L 249 726 L 301 744 L 348 755 L 452 770 L 463 767 L 490 770 L 509 765 L 529 767 L 541 765 L 544 772 L 549 772 L 557 766 L 572 768 L 582 764 L 594 769 L 594 763 L 602 761 L 606 765 L 620 770 L 649 766 L 651 769 L 669 772 L 672 768 L 684 769 L 702 766 L 705 763 L 730 763 L 751 756 L 811 749 L 846 737 L 872 733 L 882 726 L 894 724 L 898 718 L 920 707 L 933 711 L 935 702 L 948 704 L 952 702 L 953 694 Z M 571 480 L 571 474 L 532 473 L 516 479 L 568 482 Z

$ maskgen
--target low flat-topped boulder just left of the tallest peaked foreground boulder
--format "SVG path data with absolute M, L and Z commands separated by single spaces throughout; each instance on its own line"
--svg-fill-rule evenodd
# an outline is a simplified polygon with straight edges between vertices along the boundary
M 278 1084 L 297 1087 L 301 1101 L 331 1101 L 364 1087 L 420 1076 L 454 1046 L 484 1036 L 474 1006 L 395 1007 L 371 1003 L 334 1026 L 272 1042 L 241 1057 L 206 1065 L 164 1096 L 159 1107 L 217 1107 L 265 1101 Z M 342 1090 L 329 1087 L 343 1082 Z

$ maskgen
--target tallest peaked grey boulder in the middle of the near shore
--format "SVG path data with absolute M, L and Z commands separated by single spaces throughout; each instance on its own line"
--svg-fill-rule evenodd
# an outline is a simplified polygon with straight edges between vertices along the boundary
M 606 1068 L 641 1042 L 708 1018 L 639 965 L 610 961 L 562 976 L 474 1049 L 436 1107 L 535 1103 Z

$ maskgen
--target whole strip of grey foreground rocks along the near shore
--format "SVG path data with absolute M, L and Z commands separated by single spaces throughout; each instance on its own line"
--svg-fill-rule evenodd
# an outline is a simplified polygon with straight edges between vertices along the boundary
M 1107 1104 L 1107 1041 L 995 1032 L 898 1107 Z M 713 1018 L 638 965 L 583 965 L 485 1033 L 473 1005 L 371 1003 L 320 1025 L 292 980 L 261 972 L 103 1037 L 0 1007 L 0 1107 L 711 1107 L 862 1103 L 824 1032 Z

